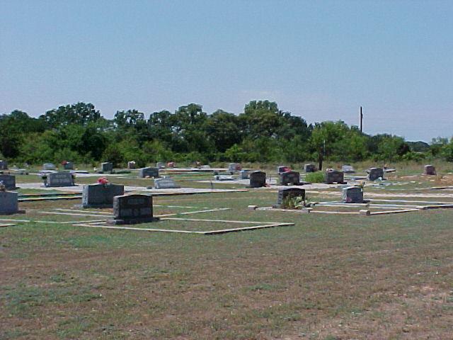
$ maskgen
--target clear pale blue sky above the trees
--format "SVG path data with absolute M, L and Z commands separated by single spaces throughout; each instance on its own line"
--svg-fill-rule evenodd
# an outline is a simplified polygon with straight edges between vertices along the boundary
M 406 140 L 453 135 L 453 1 L 0 0 L 0 114 L 276 101 Z

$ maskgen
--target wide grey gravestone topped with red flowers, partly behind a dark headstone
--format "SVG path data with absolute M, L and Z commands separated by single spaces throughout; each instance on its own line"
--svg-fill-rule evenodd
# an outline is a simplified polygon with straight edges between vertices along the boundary
M 88 184 L 82 190 L 84 208 L 113 208 L 113 198 L 125 194 L 125 186 L 118 184 Z

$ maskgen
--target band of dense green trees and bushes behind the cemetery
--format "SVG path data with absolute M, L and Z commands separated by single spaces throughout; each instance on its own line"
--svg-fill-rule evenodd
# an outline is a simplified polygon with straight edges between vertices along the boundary
M 440 157 L 453 162 L 453 138 L 406 142 L 403 137 L 367 135 L 343 121 L 307 124 L 271 101 L 251 101 L 243 113 L 208 114 L 190 103 L 175 112 L 147 117 L 135 109 L 111 120 L 92 103 L 59 106 L 30 117 L 15 110 L 0 115 L 0 157 L 39 164 L 134 160 L 153 162 L 382 162 Z

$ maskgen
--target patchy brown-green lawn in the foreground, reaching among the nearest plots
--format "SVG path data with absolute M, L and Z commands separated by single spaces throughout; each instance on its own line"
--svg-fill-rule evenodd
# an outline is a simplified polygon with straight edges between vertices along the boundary
M 295 223 L 215 236 L 55 224 L 96 217 L 40 213 L 78 201 L 21 203 L 27 213 L 11 219 L 50 223 L 0 228 L 0 339 L 451 339 L 452 209 L 371 217 L 247 209 L 276 198 L 260 190 L 154 198 L 155 215 L 231 208 L 178 217 Z

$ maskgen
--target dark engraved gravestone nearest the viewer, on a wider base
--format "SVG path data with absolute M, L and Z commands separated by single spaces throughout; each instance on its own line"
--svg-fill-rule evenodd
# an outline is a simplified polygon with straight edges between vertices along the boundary
M 154 222 L 153 196 L 122 195 L 113 198 L 112 225 L 134 225 L 137 223 Z

